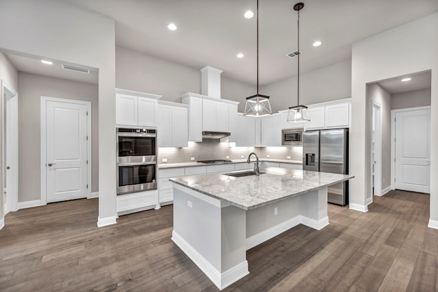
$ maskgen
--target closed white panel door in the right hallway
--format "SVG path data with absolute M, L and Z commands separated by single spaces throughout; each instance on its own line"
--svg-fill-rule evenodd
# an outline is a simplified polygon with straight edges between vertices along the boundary
M 396 113 L 396 189 L 430 193 L 430 109 Z

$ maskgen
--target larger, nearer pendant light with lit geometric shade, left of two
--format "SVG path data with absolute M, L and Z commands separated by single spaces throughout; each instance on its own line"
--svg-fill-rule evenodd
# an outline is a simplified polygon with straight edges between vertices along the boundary
M 257 0 L 257 94 L 246 98 L 244 116 L 272 115 L 269 96 L 259 94 L 259 0 Z

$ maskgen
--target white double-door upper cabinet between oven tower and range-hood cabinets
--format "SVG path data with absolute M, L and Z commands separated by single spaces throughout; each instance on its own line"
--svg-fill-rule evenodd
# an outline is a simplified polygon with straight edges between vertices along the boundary
M 159 147 L 188 146 L 188 105 L 158 102 Z

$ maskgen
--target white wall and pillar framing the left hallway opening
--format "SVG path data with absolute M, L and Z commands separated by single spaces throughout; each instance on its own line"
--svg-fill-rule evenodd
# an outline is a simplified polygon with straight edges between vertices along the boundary
M 99 68 L 101 226 L 116 221 L 114 44 L 114 20 L 101 14 L 54 0 L 0 2 L 0 49 Z

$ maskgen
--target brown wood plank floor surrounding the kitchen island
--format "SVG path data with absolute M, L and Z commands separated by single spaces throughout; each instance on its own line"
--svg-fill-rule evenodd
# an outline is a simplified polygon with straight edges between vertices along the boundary
M 170 240 L 172 206 L 96 227 L 98 201 L 22 209 L 0 230 L 1 291 L 218 291 Z M 248 250 L 224 291 L 438 291 L 429 196 L 391 191 L 368 213 L 329 204 L 330 225 L 296 226 Z

